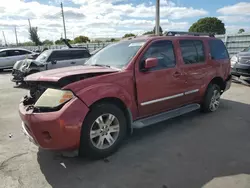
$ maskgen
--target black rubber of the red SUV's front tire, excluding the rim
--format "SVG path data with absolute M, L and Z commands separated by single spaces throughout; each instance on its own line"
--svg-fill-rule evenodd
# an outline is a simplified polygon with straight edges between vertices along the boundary
M 116 138 L 116 141 L 114 141 L 113 145 L 105 149 L 98 149 L 97 147 L 94 146 L 94 144 L 91 141 L 90 131 L 95 120 L 99 116 L 104 114 L 112 114 L 113 116 L 115 116 L 119 122 L 118 124 L 120 130 L 119 133 L 117 134 L 118 136 Z M 126 136 L 127 132 L 126 130 L 127 130 L 126 118 L 124 112 L 119 107 L 110 103 L 101 103 L 93 106 L 82 125 L 79 155 L 91 159 L 101 159 L 108 157 L 119 148 L 123 139 Z

